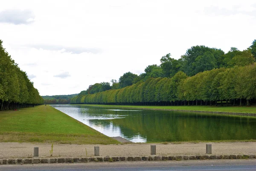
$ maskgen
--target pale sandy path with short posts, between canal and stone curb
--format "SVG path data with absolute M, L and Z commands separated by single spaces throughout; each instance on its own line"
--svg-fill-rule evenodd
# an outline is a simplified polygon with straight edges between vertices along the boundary
M 74 145 L 54 144 L 52 157 L 92 157 L 94 146 L 99 146 L 102 157 L 150 156 L 150 145 L 156 145 L 157 155 L 203 155 L 206 144 L 212 144 L 212 155 L 256 154 L 256 142 L 209 142 L 181 144 L 123 144 L 123 145 Z M 50 157 L 51 144 L 0 142 L 0 159 L 33 157 L 34 147 L 39 157 Z

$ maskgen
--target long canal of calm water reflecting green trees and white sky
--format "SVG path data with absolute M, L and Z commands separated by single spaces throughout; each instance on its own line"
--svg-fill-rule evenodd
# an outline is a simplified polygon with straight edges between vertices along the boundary
M 166 110 L 52 105 L 107 136 L 132 142 L 256 139 L 256 117 Z

